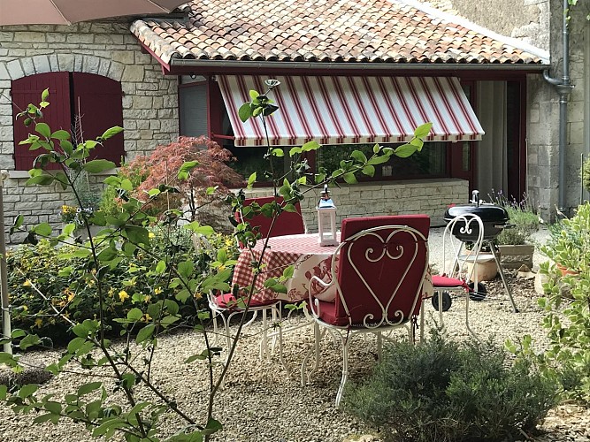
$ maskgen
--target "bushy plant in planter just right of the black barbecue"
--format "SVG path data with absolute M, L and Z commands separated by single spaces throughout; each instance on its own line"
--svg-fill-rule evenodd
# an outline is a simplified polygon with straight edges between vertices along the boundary
M 533 268 L 533 233 L 539 230 L 540 218 L 526 195 L 521 202 L 510 200 L 502 192 L 492 197 L 492 202 L 502 206 L 510 218 L 510 226 L 502 230 L 494 243 L 500 252 L 504 269 L 518 269 L 525 264 Z

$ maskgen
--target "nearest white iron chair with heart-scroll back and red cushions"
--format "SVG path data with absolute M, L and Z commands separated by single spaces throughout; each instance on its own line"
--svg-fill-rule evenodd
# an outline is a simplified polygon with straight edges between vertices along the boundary
M 310 316 L 316 335 L 316 366 L 319 339 L 326 330 L 342 346 L 342 377 L 336 394 L 340 406 L 344 385 L 349 377 L 349 346 L 357 335 L 374 333 L 380 357 L 383 333 L 406 326 L 414 339 L 422 302 L 422 284 L 428 264 L 430 218 L 423 215 L 401 217 L 348 218 L 342 221 L 339 255 L 332 262 L 332 280 L 336 286 L 334 301 L 320 301 L 310 294 Z M 313 279 L 313 278 L 312 278 Z M 320 330 L 324 329 L 324 330 Z M 302 363 L 302 384 L 308 380 L 307 362 Z

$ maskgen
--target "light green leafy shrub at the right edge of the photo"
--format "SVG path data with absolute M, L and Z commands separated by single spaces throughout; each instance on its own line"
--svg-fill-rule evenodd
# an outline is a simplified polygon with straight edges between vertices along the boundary
M 535 352 L 530 336 L 511 350 L 540 364 L 542 373 L 561 385 L 564 399 L 590 404 L 590 203 L 576 215 L 551 228 L 551 239 L 541 251 L 570 271 L 563 275 L 551 263 L 541 263 L 548 275 L 539 299 L 545 309 L 543 326 L 549 348 Z

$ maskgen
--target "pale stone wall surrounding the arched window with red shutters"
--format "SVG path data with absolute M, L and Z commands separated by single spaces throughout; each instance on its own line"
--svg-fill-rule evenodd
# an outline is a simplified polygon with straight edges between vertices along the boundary
M 154 58 L 142 53 L 128 22 L 0 27 L 0 169 L 11 173 L 4 182 L 7 226 L 23 213 L 29 224 L 47 221 L 57 227 L 60 206 L 72 201 L 71 192 L 61 188 L 25 187 L 27 173 L 14 171 L 12 158 L 11 80 L 60 71 L 121 82 L 126 161 L 178 136 L 178 80 L 165 77 Z

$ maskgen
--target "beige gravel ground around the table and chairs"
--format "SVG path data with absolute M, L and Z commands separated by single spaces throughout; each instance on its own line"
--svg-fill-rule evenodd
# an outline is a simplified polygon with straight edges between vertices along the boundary
M 431 234 L 431 254 L 437 258 L 437 244 L 441 229 Z M 538 263 L 542 257 L 536 256 Z M 513 313 L 510 302 L 503 292 L 499 278 L 487 283 L 485 301 L 471 302 L 471 325 L 480 338 L 494 336 L 496 342 L 517 339 L 525 333 L 539 339 L 545 345 L 544 331 L 540 328 L 542 312 L 537 307 L 537 294 L 533 280 L 517 279 L 509 275 L 510 286 L 517 302 L 519 313 Z M 426 330 L 438 320 L 438 314 L 428 301 L 425 306 Z M 448 336 L 466 339 L 464 326 L 464 299 L 454 298 L 453 305 L 444 313 Z M 301 314 L 295 315 L 288 325 L 303 323 Z M 258 359 L 257 342 L 261 332 L 259 322 L 246 329 L 238 353 L 229 370 L 226 386 L 218 394 L 215 403 L 216 418 L 224 423 L 224 430 L 215 440 L 224 441 L 322 441 L 346 440 L 379 441 L 379 433 L 367 428 L 355 418 L 334 408 L 335 393 L 340 383 L 341 353 L 329 339 L 322 342 L 322 362 L 310 384 L 302 387 L 298 368 L 307 349 L 312 344 L 310 328 L 303 327 L 286 334 L 285 356 L 293 377 L 287 377 L 278 361 L 277 354 L 270 361 Z M 152 379 L 162 385 L 165 392 L 174 396 L 180 408 L 190 415 L 203 415 L 206 409 L 206 370 L 200 362 L 185 364 L 191 354 L 203 350 L 203 339 L 194 332 L 179 332 L 159 339 L 157 356 L 153 363 Z M 57 351 L 26 355 L 28 363 L 51 360 Z M 363 339 L 353 341 L 350 352 L 350 377 L 364 377 L 375 362 L 374 345 Z M 62 373 L 42 385 L 41 392 L 57 395 L 72 391 L 81 377 Z M 88 380 L 87 380 L 88 381 Z M 32 424 L 34 415 L 14 415 L 11 409 L 0 406 L 0 441 L 36 442 L 45 440 L 85 441 L 92 440 L 80 424 L 50 423 Z M 167 418 L 168 428 L 174 428 L 172 417 Z M 544 432 L 534 438 L 539 442 L 590 440 L 590 411 L 572 405 L 563 405 L 550 412 L 540 429 Z

